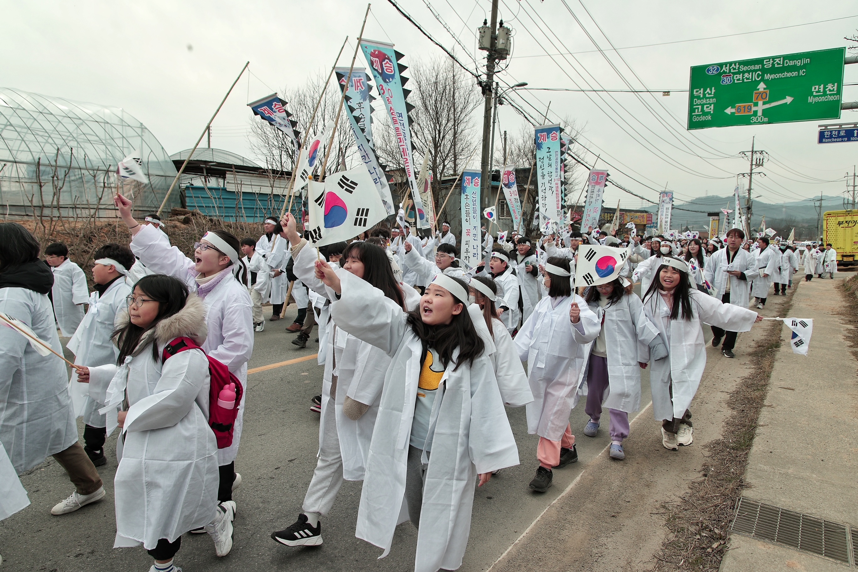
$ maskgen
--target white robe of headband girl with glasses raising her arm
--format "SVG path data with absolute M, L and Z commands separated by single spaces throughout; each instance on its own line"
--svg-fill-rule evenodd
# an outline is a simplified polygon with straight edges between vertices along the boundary
M 283 242 L 286 242 L 285 240 Z M 196 292 L 196 270 L 194 261 L 170 246 L 163 232 L 143 226 L 131 239 L 131 250 L 155 273 L 169 274 L 188 285 Z M 230 272 L 233 267 L 229 267 Z M 253 353 L 253 303 L 247 287 L 229 274 L 220 284 L 208 292 L 203 300 L 208 307 L 208 337 L 202 349 L 217 359 L 239 378 L 247 394 L 247 362 Z M 228 449 L 218 449 L 219 465 L 228 465 L 239 454 L 241 429 L 244 424 L 246 400 L 241 400 L 239 417 L 235 419 L 233 444 Z

